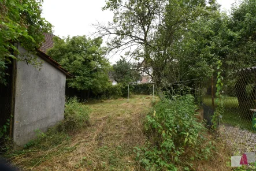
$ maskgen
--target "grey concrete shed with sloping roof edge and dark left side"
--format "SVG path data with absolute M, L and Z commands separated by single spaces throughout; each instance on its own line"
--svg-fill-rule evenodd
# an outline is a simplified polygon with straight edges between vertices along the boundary
M 17 58 L 27 53 L 20 44 L 16 46 L 20 52 Z M 31 55 L 43 61 L 40 70 L 14 60 L 9 66 L 8 86 L 0 86 L 0 126 L 10 118 L 10 137 L 17 146 L 34 139 L 35 130 L 45 132 L 64 119 L 66 78 L 72 77 L 46 49 Z

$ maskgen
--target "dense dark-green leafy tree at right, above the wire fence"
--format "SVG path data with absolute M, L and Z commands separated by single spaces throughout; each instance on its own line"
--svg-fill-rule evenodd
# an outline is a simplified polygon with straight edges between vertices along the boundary
M 229 95 L 232 91 L 238 98 L 241 114 L 247 118 L 251 117 L 249 109 L 255 108 L 256 87 L 250 94 L 246 87 L 255 83 L 255 77 L 239 70 L 256 64 L 255 8 L 255 1 L 246 0 L 234 5 L 229 16 L 216 12 L 210 18 L 200 17 L 188 25 L 189 31 L 177 48 L 180 54 L 177 68 L 185 73 L 181 80 L 191 80 L 187 85 L 194 88 L 206 84 L 211 75 L 217 77 L 216 62 L 221 60 L 224 84 L 228 87 L 224 91 L 229 90 Z

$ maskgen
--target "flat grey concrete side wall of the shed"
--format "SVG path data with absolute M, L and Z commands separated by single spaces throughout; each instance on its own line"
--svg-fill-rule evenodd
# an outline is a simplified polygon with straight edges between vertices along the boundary
M 21 54 L 23 47 L 18 47 Z M 38 57 L 42 61 L 42 58 Z M 64 119 L 66 76 L 44 61 L 40 70 L 17 62 L 13 140 L 22 146 Z

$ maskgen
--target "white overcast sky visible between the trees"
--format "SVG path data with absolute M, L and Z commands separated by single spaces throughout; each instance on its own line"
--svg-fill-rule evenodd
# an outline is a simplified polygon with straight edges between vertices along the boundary
M 222 9 L 230 9 L 235 0 L 217 0 Z M 105 0 L 44 0 L 43 14 L 54 25 L 57 36 L 90 36 L 94 32 L 92 24 L 112 21 L 113 13 L 102 11 Z M 114 62 L 118 56 L 110 58 Z

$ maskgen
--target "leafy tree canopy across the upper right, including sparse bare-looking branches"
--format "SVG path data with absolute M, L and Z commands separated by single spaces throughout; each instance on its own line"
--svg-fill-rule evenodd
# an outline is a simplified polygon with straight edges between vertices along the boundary
M 253 0 L 233 5 L 229 15 L 205 0 L 109 0 L 106 9 L 113 22 L 96 25 L 97 33 L 110 39 L 110 50 L 145 61 L 160 89 L 195 88 L 216 73 L 218 60 L 241 68 L 255 61 Z

